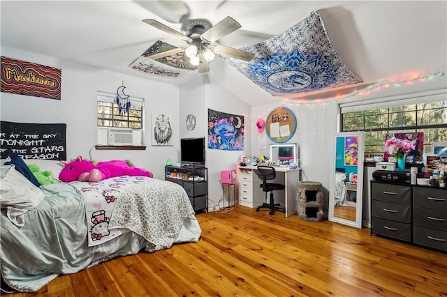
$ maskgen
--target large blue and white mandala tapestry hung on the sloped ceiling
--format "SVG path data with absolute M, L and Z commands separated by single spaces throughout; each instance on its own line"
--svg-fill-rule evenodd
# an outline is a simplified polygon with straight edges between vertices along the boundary
M 220 57 L 273 96 L 362 82 L 338 56 L 316 11 L 284 33 L 241 50 L 254 52 L 254 59 Z

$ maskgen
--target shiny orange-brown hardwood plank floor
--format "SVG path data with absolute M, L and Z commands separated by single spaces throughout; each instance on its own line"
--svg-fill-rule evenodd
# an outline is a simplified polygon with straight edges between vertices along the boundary
M 118 257 L 15 296 L 447 296 L 447 254 L 237 206 L 198 243 Z

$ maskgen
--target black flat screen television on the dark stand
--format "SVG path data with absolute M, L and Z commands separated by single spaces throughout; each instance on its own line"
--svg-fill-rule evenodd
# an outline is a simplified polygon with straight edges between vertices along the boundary
M 180 139 L 180 163 L 182 166 L 205 165 L 205 137 Z

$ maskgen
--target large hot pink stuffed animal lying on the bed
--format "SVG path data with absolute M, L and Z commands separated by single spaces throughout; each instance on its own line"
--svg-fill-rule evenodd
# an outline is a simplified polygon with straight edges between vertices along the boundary
M 59 180 L 96 182 L 122 175 L 152 177 L 151 172 L 138 167 L 129 167 L 123 160 L 98 162 L 98 165 L 95 166 L 92 162 L 82 160 L 82 157 L 79 156 L 73 162 L 66 163 L 59 174 Z

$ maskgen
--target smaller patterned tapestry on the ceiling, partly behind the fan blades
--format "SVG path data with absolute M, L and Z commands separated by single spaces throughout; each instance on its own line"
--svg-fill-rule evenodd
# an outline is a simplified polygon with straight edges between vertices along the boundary
M 188 58 L 184 56 L 183 51 L 155 60 L 148 58 L 154 54 L 160 54 L 175 48 L 177 47 L 157 40 L 141 56 L 135 59 L 129 67 L 145 74 L 161 77 L 181 77 L 189 73 L 189 70 L 195 70 L 197 67 L 189 64 Z

